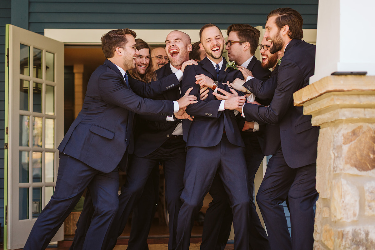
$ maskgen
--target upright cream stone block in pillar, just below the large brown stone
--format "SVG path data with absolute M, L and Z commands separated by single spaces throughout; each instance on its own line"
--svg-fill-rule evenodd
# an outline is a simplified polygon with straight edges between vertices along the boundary
M 358 220 L 359 190 L 349 181 L 339 178 L 332 184 L 331 219 L 351 222 Z

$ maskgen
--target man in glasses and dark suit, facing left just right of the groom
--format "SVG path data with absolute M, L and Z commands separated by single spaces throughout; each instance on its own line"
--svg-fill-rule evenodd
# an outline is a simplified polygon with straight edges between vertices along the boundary
M 260 31 L 249 24 L 232 24 L 228 27 L 226 33 L 228 34 L 228 41 L 225 49 L 228 51 L 229 60 L 234 61 L 238 66 L 251 70 L 257 79 L 269 79 L 270 70 L 263 68 L 261 62 L 254 56 L 258 47 Z M 247 90 L 242 91 L 246 92 Z M 249 98 L 252 98 L 253 101 L 254 94 L 251 94 Z M 267 100 L 263 102 L 258 98 L 257 101 L 264 105 L 267 102 Z M 268 237 L 261 225 L 254 204 L 254 178 L 264 158 L 261 145 L 263 145 L 265 125 L 259 126 L 257 122 L 248 122 L 240 114 L 237 114 L 237 120 L 245 143 L 249 200 L 252 206 L 252 214 L 249 220 L 250 247 L 251 249 L 267 250 L 270 249 Z M 219 177 L 216 175 L 215 179 L 219 179 Z M 212 202 L 204 219 L 201 250 L 223 250 L 231 231 L 233 215 L 229 207 L 228 196 L 220 180 L 214 180 L 209 192 L 212 196 Z

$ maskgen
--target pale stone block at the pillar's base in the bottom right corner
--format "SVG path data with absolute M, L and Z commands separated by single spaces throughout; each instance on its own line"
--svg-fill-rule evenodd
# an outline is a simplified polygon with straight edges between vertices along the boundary
M 335 249 L 374 250 L 375 226 L 353 226 L 338 230 Z

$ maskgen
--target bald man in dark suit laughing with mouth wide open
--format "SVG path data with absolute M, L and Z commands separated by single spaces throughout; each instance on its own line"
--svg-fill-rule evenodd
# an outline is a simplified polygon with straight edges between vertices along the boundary
M 170 78 L 186 65 L 197 64 L 189 60 L 192 49 L 189 35 L 178 30 L 171 31 L 165 40 L 165 52 L 170 63 L 156 70 L 157 79 Z M 179 88 L 154 96 L 157 100 L 177 100 L 181 97 Z M 178 87 L 178 84 L 177 84 Z M 141 93 L 139 93 L 141 94 Z M 117 237 L 123 232 L 127 218 L 142 194 L 144 185 L 155 164 L 162 162 L 165 177 L 165 198 L 169 213 L 168 249 L 175 249 L 177 215 L 181 207 L 180 195 L 183 189 L 183 174 L 186 160 L 186 142 L 182 137 L 182 119 L 191 119 L 186 112 L 180 116 L 139 115 L 135 131 L 134 153 L 127 169 L 126 182 L 121 187 L 116 225 L 110 230 L 106 249 L 113 249 Z M 177 119 L 176 119 L 177 118 Z

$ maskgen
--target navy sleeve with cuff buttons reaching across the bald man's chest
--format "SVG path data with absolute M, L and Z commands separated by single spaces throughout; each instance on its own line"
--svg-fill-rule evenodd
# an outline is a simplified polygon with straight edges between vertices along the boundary
M 171 90 L 180 86 L 175 74 L 163 77 L 161 80 L 145 83 L 129 77 L 129 84 L 134 93 L 142 97 L 153 98 L 164 91 Z

